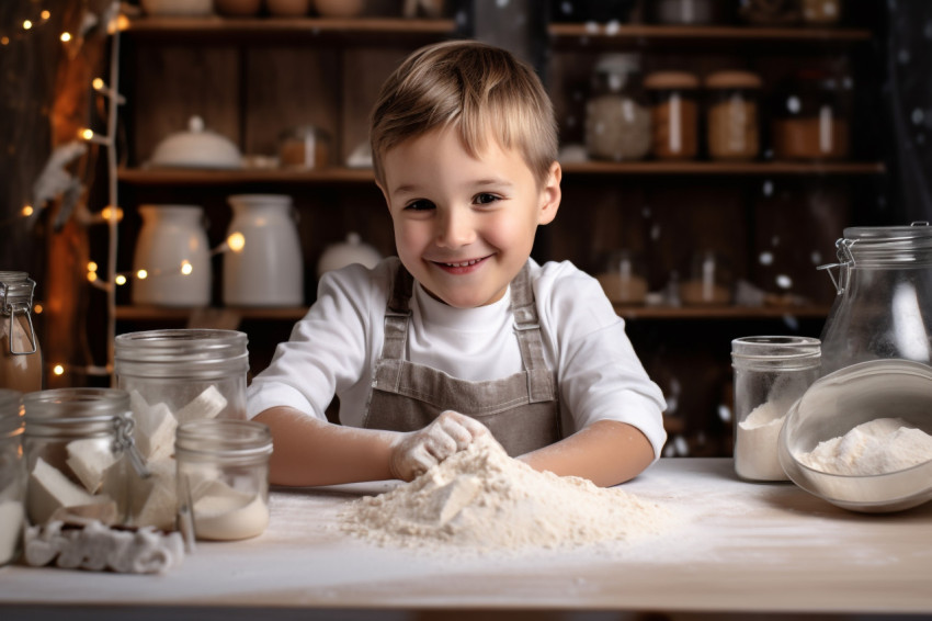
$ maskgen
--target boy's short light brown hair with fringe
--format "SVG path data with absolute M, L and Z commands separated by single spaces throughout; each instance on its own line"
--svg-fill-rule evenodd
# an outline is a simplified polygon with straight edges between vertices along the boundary
M 473 156 L 486 149 L 489 135 L 502 148 L 518 150 L 538 181 L 557 159 L 554 106 L 534 70 L 507 50 L 475 41 L 411 54 L 383 84 L 371 126 L 379 183 L 389 149 L 451 126 Z

